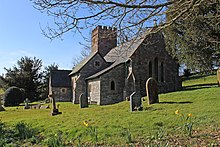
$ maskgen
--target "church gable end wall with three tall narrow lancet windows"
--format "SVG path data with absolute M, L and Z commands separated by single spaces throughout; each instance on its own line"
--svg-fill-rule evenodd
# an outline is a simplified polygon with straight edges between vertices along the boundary
M 159 93 L 181 89 L 178 65 L 166 52 L 162 34 L 152 34 L 146 38 L 131 59 L 136 90 L 140 96 L 146 96 L 149 77 L 157 80 Z

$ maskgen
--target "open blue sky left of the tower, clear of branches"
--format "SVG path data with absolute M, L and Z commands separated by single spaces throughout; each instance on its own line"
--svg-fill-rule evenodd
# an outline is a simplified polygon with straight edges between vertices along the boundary
M 24 56 L 41 59 L 43 67 L 56 63 L 59 69 L 72 69 L 74 56 L 83 49 L 79 42 L 85 41 L 72 33 L 51 41 L 41 31 L 48 24 L 53 19 L 35 9 L 30 0 L 1 0 L 0 75 L 6 72 L 4 67 L 13 67 Z

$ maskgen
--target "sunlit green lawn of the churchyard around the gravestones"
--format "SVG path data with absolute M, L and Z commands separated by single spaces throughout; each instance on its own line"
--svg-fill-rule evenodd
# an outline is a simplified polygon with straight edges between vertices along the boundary
M 49 109 L 7 107 L 6 111 L 0 112 L 0 120 L 9 126 L 26 122 L 42 136 L 61 131 L 66 141 L 91 143 L 88 128 L 83 124 L 87 121 L 96 128 L 98 143 L 101 145 L 123 145 L 131 141 L 146 143 L 161 136 L 178 139 L 181 137 L 181 121 L 175 115 L 175 110 L 184 115 L 192 113 L 194 139 L 218 130 L 220 90 L 216 76 L 194 77 L 184 81 L 183 86 L 183 91 L 160 94 L 158 104 L 148 105 L 144 101 L 143 111 L 130 112 L 127 101 L 108 106 L 91 105 L 84 109 L 66 102 L 59 103 L 61 115 L 52 117 Z

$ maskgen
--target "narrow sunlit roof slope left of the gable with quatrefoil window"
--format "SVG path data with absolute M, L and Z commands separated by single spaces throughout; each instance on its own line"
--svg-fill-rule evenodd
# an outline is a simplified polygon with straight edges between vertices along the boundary
M 85 59 L 83 59 L 79 64 L 77 64 L 72 72 L 69 75 L 73 75 L 75 73 L 77 73 L 80 69 L 82 69 L 98 52 L 92 52 L 91 54 L 89 54 L 89 56 L 87 56 Z

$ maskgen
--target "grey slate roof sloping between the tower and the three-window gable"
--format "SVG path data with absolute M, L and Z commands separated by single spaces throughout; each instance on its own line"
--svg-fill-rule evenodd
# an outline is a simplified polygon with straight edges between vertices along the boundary
M 104 59 L 106 60 L 106 62 L 114 63 L 109 67 L 103 69 L 102 71 L 88 77 L 87 80 L 96 78 L 104 74 L 105 72 L 111 70 L 112 68 L 118 66 L 119 64 L 127 62 L 133 55 L 133 53 L 137 50 L 137 48 L 141 45 L 141 43 L 144 41 L 144 39 L 145 35 L 143 37 L 138 37 L 111 49 L 111 51 L 104 57 Z

